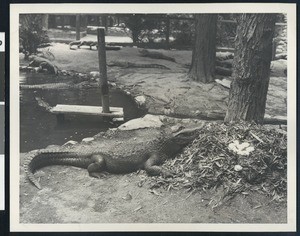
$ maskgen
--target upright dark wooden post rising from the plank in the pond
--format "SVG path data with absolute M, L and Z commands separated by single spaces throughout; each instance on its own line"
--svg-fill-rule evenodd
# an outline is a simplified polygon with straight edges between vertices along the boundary
M 98 37 L 98 59 L 99 59 L 99 71 L 102 99 L 102 111 L 103 113 L 109 113 L 109 91 L 107 83 L 107 71 L 106 71 L 106 50 L 105 50 L 105 31 L 104 28 L 97 29 Z

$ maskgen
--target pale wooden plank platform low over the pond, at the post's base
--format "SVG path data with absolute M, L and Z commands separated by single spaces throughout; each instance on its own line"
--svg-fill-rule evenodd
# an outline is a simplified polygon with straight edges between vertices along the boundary
M 66 115 L 97 115 L 106 117 L 124 117 L 122 107 L 110 107 L 110 113 L 102 113 L 100 106 L 83 106 L 83 105 L 64 105 L 57 104 L 50 112 L 53 114 L 66 114 Z

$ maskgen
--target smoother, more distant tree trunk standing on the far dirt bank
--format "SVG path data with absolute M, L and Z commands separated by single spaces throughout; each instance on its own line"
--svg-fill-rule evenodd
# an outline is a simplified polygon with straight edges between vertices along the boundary
M 216 14 L 196 14 L 195 43 L 189 77 L 203 83 L 214 81 L 216 59 Z

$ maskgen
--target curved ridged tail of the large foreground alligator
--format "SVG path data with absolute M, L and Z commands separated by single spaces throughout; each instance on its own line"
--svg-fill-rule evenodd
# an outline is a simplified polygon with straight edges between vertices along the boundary
M 42 189 L 39 181 L 35 178 L 34 172 L 46 166 L 68 165 L 80 168 L 87 168 L 91 163 L 89 155 L 81 155 L 75 152 L 45 151 L 32 152 L 30 158 L 24 164 L 24 170 L 29 181 L 38 189 Z

